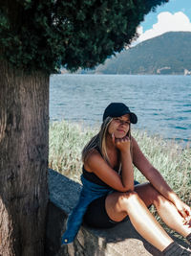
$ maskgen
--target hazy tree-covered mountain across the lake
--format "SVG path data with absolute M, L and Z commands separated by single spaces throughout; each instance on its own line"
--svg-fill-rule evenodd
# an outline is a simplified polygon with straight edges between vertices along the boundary
M 191 32 L 169 32 L 124 50 L 115 58 L 107 59 L 104 65 L 96 67 L 94 73 L 180 75 L 186 72 L 189 74 L 189 71 Z

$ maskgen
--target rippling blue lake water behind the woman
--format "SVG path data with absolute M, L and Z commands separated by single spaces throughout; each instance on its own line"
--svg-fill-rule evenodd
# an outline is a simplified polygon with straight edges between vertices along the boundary
M 97 125 L 111 102 L 122 102 L 137 113 L 137 128 L 166 139 L 191 141 L 191 76 L 51 76 L 52 121 Z

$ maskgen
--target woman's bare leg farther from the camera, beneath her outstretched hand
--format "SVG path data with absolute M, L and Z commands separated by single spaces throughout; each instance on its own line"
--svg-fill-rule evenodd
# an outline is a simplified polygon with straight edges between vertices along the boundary
M 183 237 L 186 237 L 191 233 L 191 227 L 183 224 L 183 218 L 180 216 L 175 205 L 161 196 L 152 185 L 138 185 L 135 190 L 147 206 L 150 204 L 156 206 L 162 221 L 164 221 L 170 228 L 180 233 Z

